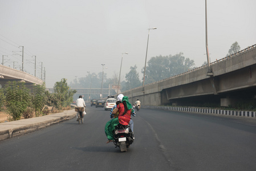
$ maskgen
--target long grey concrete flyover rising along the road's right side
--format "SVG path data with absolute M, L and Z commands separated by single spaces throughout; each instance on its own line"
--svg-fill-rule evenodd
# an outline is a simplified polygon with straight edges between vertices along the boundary
M 214 101 L 221 106 L 256 98 L 256 44 L 208 66 L 123 92 L 143 105 L 189 105 Z

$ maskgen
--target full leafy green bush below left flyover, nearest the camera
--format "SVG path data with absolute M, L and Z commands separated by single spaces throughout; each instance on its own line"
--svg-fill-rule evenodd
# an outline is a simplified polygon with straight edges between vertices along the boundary
M 31 104 L 30 91 L 23 82 L 7 82 L 5 86 L 6 107 L 12 120 L 21 119 Z

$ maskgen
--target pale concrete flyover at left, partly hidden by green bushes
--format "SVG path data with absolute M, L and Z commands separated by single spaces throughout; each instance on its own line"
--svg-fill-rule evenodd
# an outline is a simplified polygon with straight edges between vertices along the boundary
M 25 82 L 28 88 L 31 88 L 33 84 L 43 84 L 43 80 L 27 74 L 26 72 L 0 65 L 0 88 L 4 87 L 9 81 Z

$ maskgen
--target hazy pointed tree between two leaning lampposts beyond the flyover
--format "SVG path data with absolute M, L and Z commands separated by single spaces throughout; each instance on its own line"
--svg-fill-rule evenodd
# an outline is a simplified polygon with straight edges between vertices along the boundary
M 137 72 L 137 66 L 135 65 L 134 67 L 130 67 L 130 69 L 131 70 L 127 74 L 125 74 L 126 84 L 125 88 L 122 89 L 122 91 L 141 86 L 139 73 Z

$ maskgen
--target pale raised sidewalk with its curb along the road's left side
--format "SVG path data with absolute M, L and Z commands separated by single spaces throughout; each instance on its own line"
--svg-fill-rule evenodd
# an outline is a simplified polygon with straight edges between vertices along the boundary
M 73 119 L 75 116 L 75 110 L 71 109 L 46 116 L 0 123 L 0 141 L 46 128 L 53 124 Z

